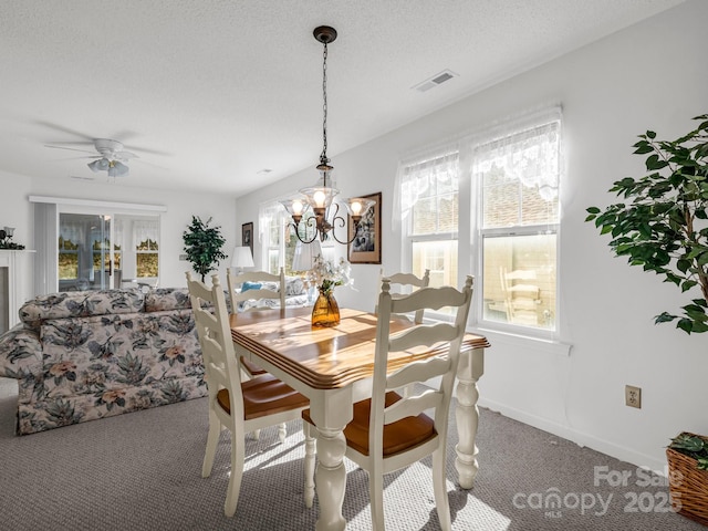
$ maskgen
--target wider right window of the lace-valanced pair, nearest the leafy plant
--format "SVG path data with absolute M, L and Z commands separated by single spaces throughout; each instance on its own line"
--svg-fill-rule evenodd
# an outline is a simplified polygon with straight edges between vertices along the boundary
M 559 170 L 560 119 L 473 148 L 482 321 L 555 330 Z

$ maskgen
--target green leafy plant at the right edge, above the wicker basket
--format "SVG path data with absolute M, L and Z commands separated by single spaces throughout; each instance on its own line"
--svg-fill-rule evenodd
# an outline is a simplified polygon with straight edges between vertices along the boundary
M 702 299 L 681 306 L 683 316 L 663 312 L 655 323 L 678 320 L 687 333 L 708 332 L 708 114 L 695 117 L 697 128 L 676 140 L 658 140 L 647 131 L 634 144 L 636 155 L 648 155 L 648 174 L 614 183 L 610 191 L 627 202 L 604 210 L 587 208 L 601 235 L 629 266 L 641 266 L 673 282 L 681 292 L 694 287 Z

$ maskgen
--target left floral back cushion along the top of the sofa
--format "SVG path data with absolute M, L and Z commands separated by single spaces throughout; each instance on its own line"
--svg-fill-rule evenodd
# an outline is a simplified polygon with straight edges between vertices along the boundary
M 20 320 L 38 331 L 49 319 L 87 317 L 143 311 L 145 295 L 137 289 L 72 291 L 39 295 L 20 308 Z

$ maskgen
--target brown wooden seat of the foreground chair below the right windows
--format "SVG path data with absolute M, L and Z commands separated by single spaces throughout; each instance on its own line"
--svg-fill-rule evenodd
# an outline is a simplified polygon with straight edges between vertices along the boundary
M 400 400 L 397 393 L 386 393 L 386 407 Z M 346 446 L 368 456 L 368 425 L 371 419 L 372 400 L 367 398 L 354 404 L 354 418 L 344 428 Z M 302 412 L 302 418 L 312 424 L 310 409 Z M 414 448 L 437 435 L 433 419 L 425 414 L 406 417 L 384 426 L 384 456 L 393 456 Z

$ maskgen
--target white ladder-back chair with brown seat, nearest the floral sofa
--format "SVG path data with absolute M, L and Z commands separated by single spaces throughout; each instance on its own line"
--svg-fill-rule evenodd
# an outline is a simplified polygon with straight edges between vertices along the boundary
M 243 476 L 246 434 L 300 417 L 309 400 L 271 374 L 241 382 L 219 275 L 211 277 L 211 288 L 208 288 L 187 272 L 187 285 L 209 389 L 209 434 L 201 477 L 208 478 L 211 473 L 219 434 L 228 429 L 231 475 L 223 512 L 232 517 Z

